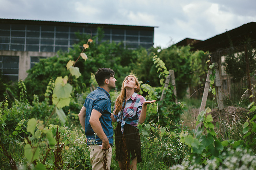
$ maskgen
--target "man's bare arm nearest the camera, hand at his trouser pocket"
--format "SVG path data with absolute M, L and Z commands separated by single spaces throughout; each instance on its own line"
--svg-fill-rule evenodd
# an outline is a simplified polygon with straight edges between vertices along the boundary
M 102 141 L 101 149 L 103 150 L 103 149 L 109 149 L 110 145 L 109 145 L 109 139 L 102 129 L 101 122 L 99 122 L 99 118 L 101 117 L 101 115 L 102 114 L 99 111 L 93 109 L 91 111 L 91 117 L 89 122 L 91 124 L 91 127 L 93 128 L 93 131 L 97 133 L 98 137 L 101 139 Z

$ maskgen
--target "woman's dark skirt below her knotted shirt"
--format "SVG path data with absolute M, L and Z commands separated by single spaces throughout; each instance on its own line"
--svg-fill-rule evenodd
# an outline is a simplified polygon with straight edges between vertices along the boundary
M 129 124 L 124 125 L 124 133 L 121 131 L 121 123 L 116 127 L 116 161 L 132 161 L 134 158 L 141 162 L 139 129 Z

